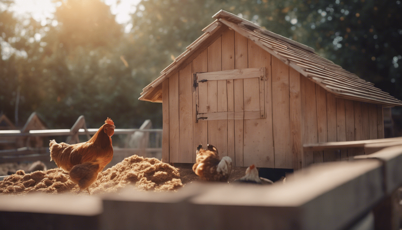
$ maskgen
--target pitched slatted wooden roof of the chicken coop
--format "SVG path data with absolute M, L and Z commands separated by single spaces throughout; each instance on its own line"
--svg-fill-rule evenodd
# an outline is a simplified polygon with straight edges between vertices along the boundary
M 357 77 L 334 62 L 320 57 L 314 53 L 313 48 L 267 31 L 224 10 L 217 12 L 213 18 L 216 20 L 203 29 L 204 34 L 190 44 L 186 48 L 187 50 L 180 54 L 172 64 L 162 70 L 160 77 L 143 89 L 140 100 L 162 102 L 162 82 L 189 64 L 202 52 L 202 48 L 209 46 L 224 29 L 229 27 L 336 97 L 384 106 L 402 106 L 402 101 L 374 87 L 373 83 Z

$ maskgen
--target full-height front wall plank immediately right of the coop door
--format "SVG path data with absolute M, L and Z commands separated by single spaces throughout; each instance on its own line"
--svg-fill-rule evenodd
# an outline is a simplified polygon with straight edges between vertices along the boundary
M 271 56 L 275 168 L 293 167 L 289 111 L 289 66 Z

